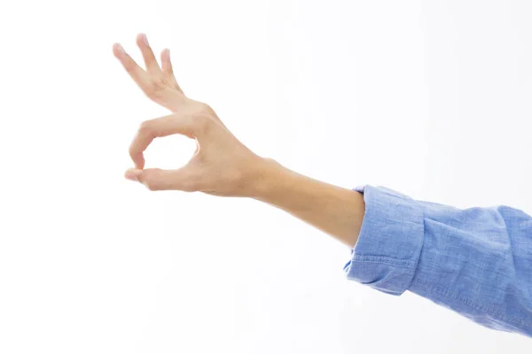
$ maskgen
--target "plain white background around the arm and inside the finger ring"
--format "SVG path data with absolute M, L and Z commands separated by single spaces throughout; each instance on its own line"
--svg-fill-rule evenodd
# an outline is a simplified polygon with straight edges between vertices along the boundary
M 123 179 L 166 115 L 113 58 L 170 48 L 185 93 L 259 155 L 345 188 L 532 212 L 532 3 L 0 5 L 0 353 L 530 353 L 266 204 Z M 147 165 L 184 164 L 186 138 Z

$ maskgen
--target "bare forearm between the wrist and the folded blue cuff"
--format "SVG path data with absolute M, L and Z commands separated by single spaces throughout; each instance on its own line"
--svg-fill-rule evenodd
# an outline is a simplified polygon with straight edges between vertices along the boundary
M 278 207 L 355 247 L 364 218 L 364 196 L 289 170 L 265 159 L 257 169 L 251 197 Z

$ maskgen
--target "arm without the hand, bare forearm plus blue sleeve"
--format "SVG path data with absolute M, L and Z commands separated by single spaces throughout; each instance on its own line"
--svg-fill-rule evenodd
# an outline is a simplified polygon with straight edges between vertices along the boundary
M 352 249 L 349 280 L 409 290 L 478 324 L 532 336 L 532 217 L 508 207 L 458 209 L 392 189 L 341 189 L 271 161 L 255 199 Z M 365 199 L 365 202 L 364 202 Z

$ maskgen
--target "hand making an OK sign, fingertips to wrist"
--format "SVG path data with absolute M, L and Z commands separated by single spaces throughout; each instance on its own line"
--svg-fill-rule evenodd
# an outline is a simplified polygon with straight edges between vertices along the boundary
M 147 96 L 175 113 L 146 120 L 140 125 L 129 147 L 135 168 L 126 171 L 125 177 L 143 183 L 150 190 L 176 189 L 215 196 L 253 196 L 265 175 L 266 165 L 272 165 L 273 160 L 261 158 L 247 149 L 223 125 L 210 106 L 184 96 L 171 71 L 168 56 L 165 64 L 163 51 L 160 70 L 142 36 L 137 37 L 137 42 L 143 50 L 148 72 L 121 50 L 120 44 L 113 46 L 114 55 Z M 144 169 L 143 152 L 153 139 L 174 134 L 196 139 L 197 149 L 191 160 L 176 170 Z

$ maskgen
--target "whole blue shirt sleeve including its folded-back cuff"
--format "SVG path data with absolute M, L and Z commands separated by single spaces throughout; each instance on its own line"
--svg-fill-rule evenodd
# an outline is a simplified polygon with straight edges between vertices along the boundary
M 365 214 L 348 280 L 424 296 L 489 328 L 532 336 L 532 217 L 509 206 L 458 209 L 356 187 Z

